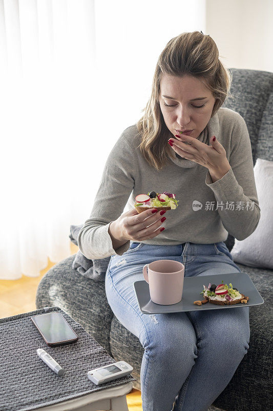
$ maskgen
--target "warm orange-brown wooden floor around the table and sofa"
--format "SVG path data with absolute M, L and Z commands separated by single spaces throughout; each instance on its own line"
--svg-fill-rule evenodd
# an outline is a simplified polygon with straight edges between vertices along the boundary
M 71 254 L 77 251 L 78 247 L 71 242 Z M 38 284 L 54 264 L 48 259 L 47 268 L 42 270 L 38 277 L 23 275 L 16 280 L 0 279 L 0 318 L 36 310 L 35 296 Z M 133 388 L 126 398 L 129 411 L 142 411 L 139 390 Z

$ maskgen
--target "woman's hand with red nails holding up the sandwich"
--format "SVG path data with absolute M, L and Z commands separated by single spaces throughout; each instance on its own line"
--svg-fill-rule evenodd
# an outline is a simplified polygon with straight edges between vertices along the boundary
M 152 213 L 153 210 L 156 209 L 151 208 L 138 214 L 134 208 L 121 214 L 110 225 L 113 237 L 124 243 L 128 240 L 141 242 L 156 237 L 163 231 L 160 226 L 163 223 L 161 219 L 165 211 Z

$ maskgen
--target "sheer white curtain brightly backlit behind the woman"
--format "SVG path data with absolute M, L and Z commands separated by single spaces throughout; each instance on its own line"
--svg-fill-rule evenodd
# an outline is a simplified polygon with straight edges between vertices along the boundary
M 70 255 L 160 52 L 194 30 L 205 0 L 0 0 L 0 279 Z

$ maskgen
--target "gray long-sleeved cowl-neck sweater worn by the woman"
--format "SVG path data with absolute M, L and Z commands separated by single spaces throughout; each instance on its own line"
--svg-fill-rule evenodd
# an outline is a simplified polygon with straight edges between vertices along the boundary
M 165 214 L 165 230 L 142 241 L 145 244 L 212 244 L 225 241 L 228 233 L 238 240 L 253 233 L 260 208 L 246 123 L 239 113 L 221 107 L 198 140 L 209 145 L 212 136 L 225 148 L 231 166 L 214 183 L 206 167 L 177 154 L 157 171 L 141 154 L 136 124 L 126 128 L 109 154 L 90 218 L 79 232 L 82 254 L 99 259 L 127 251 L 130 240 L 116 251 L 113 249 L 109 225 L 134 207 L 136 195 L 150 191 L 174 193 L 179 202 L 175 210 Z

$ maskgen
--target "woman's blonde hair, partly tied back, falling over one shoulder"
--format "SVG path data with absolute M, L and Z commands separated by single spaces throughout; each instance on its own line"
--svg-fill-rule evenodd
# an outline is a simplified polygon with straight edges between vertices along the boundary
M 181 33 L 171 39 L 161 52 L 152 84 L 152 95 L 146 104 L 144 115 L 136 123 L 141 136 L 139 144 L 141 153 L 148 163 L 161 170 L 169 156 L 175 155 L 167 143 L 170 130 L 166 127 L 160 105 L 160 80 L 162 73 L 172 76 L 185 74 L 205 79 L 203 84 L 212 92 L 216 99 L 212 115 L 222 106 L 230 94 L 232 72 L 219 60 L 219 51 L 216 43 L 209 35 L 193 31 Z

